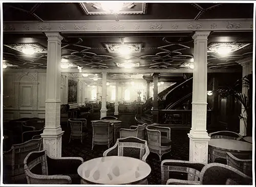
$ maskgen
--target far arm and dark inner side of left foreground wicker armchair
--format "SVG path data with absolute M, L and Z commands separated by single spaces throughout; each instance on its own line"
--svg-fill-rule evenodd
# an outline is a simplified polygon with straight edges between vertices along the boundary
M 49 175 L 76 174 L 77 168 L 83 163 L 81 157 L 53 158 L 47 156 Z

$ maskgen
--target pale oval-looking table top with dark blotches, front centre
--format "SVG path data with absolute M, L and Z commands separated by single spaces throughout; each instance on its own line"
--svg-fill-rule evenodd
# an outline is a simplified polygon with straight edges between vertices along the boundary
M 83 162 L 77 173 L 90 183 L 130 184 L 145 179 L 151 173 L 151 167 L 133 157 L 106 156 Z

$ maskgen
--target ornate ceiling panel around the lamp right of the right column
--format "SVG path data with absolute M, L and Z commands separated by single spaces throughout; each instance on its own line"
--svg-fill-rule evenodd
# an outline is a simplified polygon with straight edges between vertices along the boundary
M 245 48 L 246 46 L 250 45 L 251 43 L 240 43 L 240 42 L 218 42 L 218 43 L 210 43 L 208 45 L 208 53 L 217 53 L 218 48 L 221 46 L 229 46 L 231 49 L 231 53 L 236 52 L 238 50 L 241 50 Z

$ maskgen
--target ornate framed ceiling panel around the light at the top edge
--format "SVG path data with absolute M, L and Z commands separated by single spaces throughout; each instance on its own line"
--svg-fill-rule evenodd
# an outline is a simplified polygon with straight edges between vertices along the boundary
M 111 4 L 111 2 L 109 2 Z M 100 3 L 79 3 L 86 15 L 108 15 L 110 12 L 104 11 Z M 114 6 L 114 5 L 113 5 Z M 147 9 L 146 3 L 124 3 L 123 8 L 118 14 L 145 14 Z

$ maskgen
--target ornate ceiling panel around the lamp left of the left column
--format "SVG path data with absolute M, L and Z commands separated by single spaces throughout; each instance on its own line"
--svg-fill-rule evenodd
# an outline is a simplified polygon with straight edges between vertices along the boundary
M 22 53 L 22 48 L 24 48 L 24 46 L 29 46 L 33 48 L 35 50 L 35 53 L 47 53 L 47 49 L 39 43 L 12 43 L 5 44 L 5 46 L 13 50 L 16 50 L 20 53 Z

